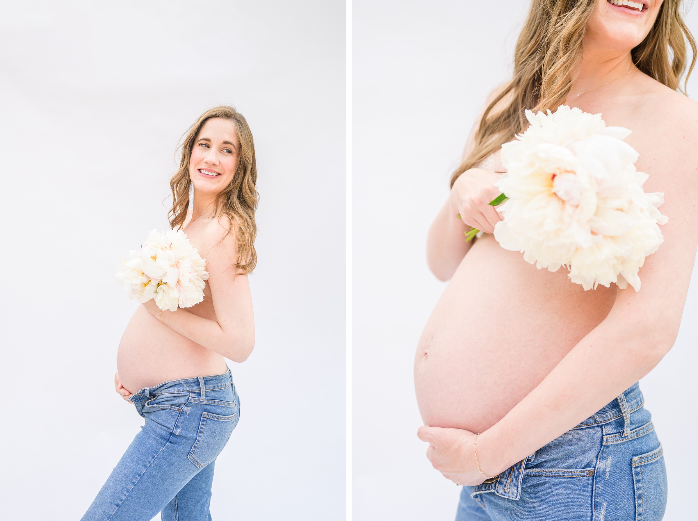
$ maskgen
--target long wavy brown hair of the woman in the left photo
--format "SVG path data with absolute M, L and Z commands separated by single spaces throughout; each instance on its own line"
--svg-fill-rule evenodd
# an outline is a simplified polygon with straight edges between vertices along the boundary
M 225 216 L 230 222 L 228 233 L 234 232 L 237 241 L 237 273 L 251 273 L 257 264 L 257 251 L 255 250 L 255 238 L 257 236 L 257 224 L 255 223 L 255 210 L 259 194 L 255 188 L 257 183 L 257 161 L 255 160 L 255 143 L 252 132 L 247 125 L 244 116 L 233 107 L 221 105 L 207 110 L 189 128 L 182 142 L 179 170 L 170 179 L 172 190 L 172 208 L 168 212 L 170 226 L 181 227 L 186 220 L 186 212 L 189 208 L 189 160 L 196 138 L 201 128 L 209 119 L 223 118 L 235 124 L 235 133 L 240 143 L 237 151 L 237 165 L 235 175 L 230 184 L 216 196 L 214 217 Z

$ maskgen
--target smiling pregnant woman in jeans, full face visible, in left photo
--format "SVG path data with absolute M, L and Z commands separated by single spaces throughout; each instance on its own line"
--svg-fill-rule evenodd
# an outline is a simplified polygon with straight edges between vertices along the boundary
M 239 418 L 225 358 L 254 346 L 247 280 L 256 263 L 257 167 L 247 123 L 232 107 L 208 110 L 182 146 L 170 181 L 170 225 L 206 259 L 204 300 L 163 311 L 154 300 L 126 326 L 117 391 L 145 425 L 107 478 L 84 521 L 210 520 L 214 460 Z M 193 202 L 190 188 L 193 186 Z

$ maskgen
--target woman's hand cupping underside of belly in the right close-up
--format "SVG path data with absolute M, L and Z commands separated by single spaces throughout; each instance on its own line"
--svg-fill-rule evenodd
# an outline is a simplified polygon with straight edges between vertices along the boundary
M 417 437 L 429 443 L 426 457 L 431 465 L 456 485 L 480 485 L 487 479 L 477 470 L 475 463 L 475 433 L 422 425 L 417 430 Z M 487 472 L 487 469 L 483 470 Z

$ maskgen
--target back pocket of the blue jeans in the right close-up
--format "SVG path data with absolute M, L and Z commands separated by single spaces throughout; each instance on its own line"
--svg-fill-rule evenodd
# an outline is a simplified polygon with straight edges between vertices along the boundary
M 635 520 L 660 521 L 667 508 L 667 469 L 662 445 L 632 458 L 635 486 Z

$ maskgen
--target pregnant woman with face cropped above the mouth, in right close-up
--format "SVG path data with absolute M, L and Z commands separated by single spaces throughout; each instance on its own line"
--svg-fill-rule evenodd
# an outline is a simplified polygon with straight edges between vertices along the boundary
M 514 76 L 487 101 L 452 176 L 427 246 L 431 271 L 450 283 L 419 340 L 415 387 L 429 460 L 466 485 L 459 521 L 664 515 L 662 446 L 637 382 L 674 344 L 698 246 L 698 105 L 677 91 L 695 43 L 679 8 L 533 0 Z M 524 110 L 563 104 L 632 130 L 644 190 L 664 192 L 664 243 L 639 292 L 584 291 L 491 235 L 500 146 L 526 129 Z M 470 227 L 486 234 L 468 243 Z

